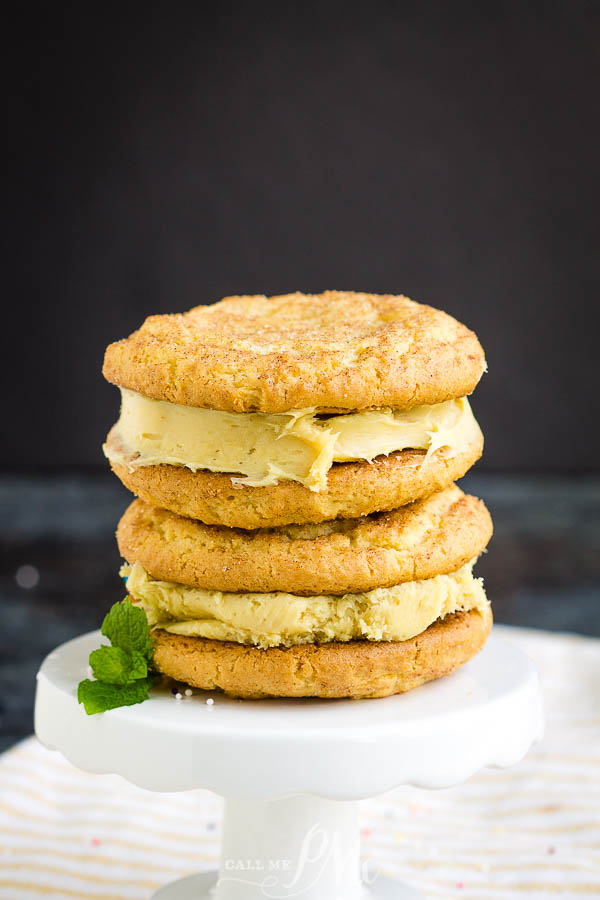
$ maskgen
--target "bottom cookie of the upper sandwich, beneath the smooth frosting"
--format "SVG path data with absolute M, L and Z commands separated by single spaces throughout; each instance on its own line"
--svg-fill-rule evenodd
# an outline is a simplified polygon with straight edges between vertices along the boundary
M 229 475 L 192 472 L 183 466 L 130 469 L 114 462 L 111 466 L 125 487 L 153 506 L 207 525 L 254 529 L 397 509 L 461 478 L 482 450 L 483 435 L 473 420 L 472 431 L 458 452 L 442 447 L 426 460 L 424 450 L 401 450 L 372 463 L 335 463 L 326 489 L 318 493 L 295 481 L 268 487 L 234 485 Z

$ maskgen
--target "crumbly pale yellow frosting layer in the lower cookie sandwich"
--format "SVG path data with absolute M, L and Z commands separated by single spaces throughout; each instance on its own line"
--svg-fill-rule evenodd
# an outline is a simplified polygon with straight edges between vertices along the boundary
M 472 568 L 360 594 L 299 597 L 208 591 L 155 581 L 139 563 L 124 565 L 127 590 L 151 626 L 173 634 L 257 647 L 290 647 L 327 641 L 405 641 L 436 619 L 483 609 L 487 598 Z

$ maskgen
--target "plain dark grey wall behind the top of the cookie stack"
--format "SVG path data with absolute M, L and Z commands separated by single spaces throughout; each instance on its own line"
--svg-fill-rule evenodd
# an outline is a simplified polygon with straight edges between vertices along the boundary
M 116 10 L 47 23 L 35 141 L 16 79 L 1 462 L 103 465 L 145 315 L 340 288 L 477 331 L 482 469 L 598 466 L 596 3 Z

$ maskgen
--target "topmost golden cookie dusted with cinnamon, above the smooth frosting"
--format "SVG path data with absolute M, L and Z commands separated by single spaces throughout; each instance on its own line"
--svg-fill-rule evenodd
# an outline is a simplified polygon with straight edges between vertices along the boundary
M 110 344 L 104 376 L 155 400 L 230 412 L 409 409 L 471 393 L 477 337 L 440 310 L 391 294 L 226 297 L 150 316 Z

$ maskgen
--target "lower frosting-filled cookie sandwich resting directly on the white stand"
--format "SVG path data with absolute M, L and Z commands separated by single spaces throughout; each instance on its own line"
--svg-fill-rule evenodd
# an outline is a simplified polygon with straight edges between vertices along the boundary
M 483 645 L 473 563 L 492 523 L 451 485 L 391 513 L 242 531 L 136 500 L 119 523 L 129 595 L 165 674 L 238 697 L 379 697 Z

